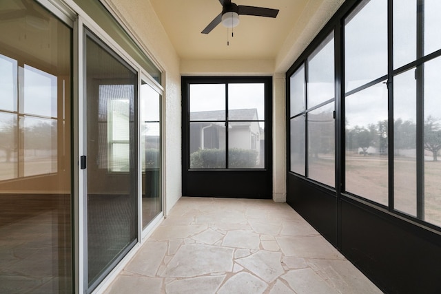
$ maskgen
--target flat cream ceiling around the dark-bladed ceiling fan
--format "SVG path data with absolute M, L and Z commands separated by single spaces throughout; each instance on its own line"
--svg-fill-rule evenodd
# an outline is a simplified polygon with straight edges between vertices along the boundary
M 276 19 L 240 15 L 233 38 L 231 29 L 228 36 L 221 24 L 209 34 L 201 34 L 222 11 L 218 0 L 150 1 L 178 55 L 192 60 L 276 59 L 307 3 L 317 0 L 233 0 L 237 5 L 280 10 Z

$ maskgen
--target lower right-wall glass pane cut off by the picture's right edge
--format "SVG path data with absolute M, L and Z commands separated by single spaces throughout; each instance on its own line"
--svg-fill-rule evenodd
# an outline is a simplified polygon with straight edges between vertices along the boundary
M 441 226 L 441 58 L 424 64 L 424 217 Z

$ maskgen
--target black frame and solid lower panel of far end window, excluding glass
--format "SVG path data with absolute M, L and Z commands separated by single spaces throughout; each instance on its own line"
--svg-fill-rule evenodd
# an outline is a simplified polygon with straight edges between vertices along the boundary
M 189 87 L 192 84 L 263 83 L 265 85 L 265 163 L 262 168 L 228 168 L 228 141 L 225 145 L 225 168 L 190 168 Z M 183 196 L 216 196 L 235 198 L 272 198 L 272 76 L 182 76 L 182 174 Z M 227 92 L 226 92 L 227 98 Z M 226 101 L 227 111 L 227 101 Z M 195 120 L 192 120 L 193 122 Z M 205 120 L 204 120 L 205 121 Z M 243 120 L 220 120 L 220 123 L 238 123 Z M 247 120 L 249 121 L 249 120 Z M 206 122 L 206 121 L 205 121 Z M 228 135 L 226 134 L 228 140 Z

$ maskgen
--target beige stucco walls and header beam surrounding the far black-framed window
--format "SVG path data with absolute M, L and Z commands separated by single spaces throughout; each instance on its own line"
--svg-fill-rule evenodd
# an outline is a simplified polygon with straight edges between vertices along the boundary
M 181 75 L 273 76 L 273 199 L 286 200 L 285 72 L 344 0 L 311 0 L 278 55 L 265 60 L 180 60 L 149 0 L 106 0 L 165 72 L 167 211 L 181 197 Z

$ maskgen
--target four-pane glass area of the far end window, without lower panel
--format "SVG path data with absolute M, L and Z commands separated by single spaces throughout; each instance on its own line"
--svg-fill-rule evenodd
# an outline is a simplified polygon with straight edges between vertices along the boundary
M 189 85 L 191 169 L 265 167 L 265 84 Z

